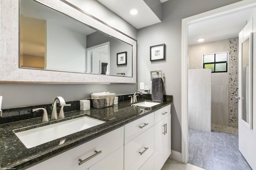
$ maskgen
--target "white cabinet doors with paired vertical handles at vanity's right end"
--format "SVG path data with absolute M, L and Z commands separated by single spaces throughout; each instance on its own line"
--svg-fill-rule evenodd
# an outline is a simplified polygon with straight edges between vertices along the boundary
M 155 124 L 155 170 L 160 170 L 171 154 L 171 115 Z

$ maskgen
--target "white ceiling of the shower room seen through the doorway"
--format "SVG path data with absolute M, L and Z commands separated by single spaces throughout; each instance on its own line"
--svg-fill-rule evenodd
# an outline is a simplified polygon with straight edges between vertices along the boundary
M 188 26 L 188 45 L 218 41 L 238 37 L 238 33 L 246 25 L 246 21 L 254 8 L 240 10 L 231 14 L 202 21 Z

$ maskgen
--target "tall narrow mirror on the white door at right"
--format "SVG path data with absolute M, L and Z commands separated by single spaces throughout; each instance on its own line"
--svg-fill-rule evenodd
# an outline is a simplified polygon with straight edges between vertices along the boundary
M 242 43 L 242 119 L 249 123 L 250 114 L 250 41 Z

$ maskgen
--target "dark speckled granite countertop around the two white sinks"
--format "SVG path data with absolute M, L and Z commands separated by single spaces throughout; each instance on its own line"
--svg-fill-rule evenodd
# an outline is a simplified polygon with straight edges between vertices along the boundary
M 139 102 L 145 101 L 140 99 Z M 81 111 L 69 111 L 65 113 L 65 119 L 56 121 L 49 121 L 47 123 L 41 123 L 40 117 L 26 119 L 22 121 L 15 121 L 11 123 L 4 123 L 0 125 L 0 169 L 21 169 L 31 164 L 34 164 L 40 160 L 58 154 L 59 152 L 71 149 L 77 145 L 88 142 L 100 135 L 108 133 L 118 127 L 121 127 L 131 121 L 139 119 L 149 113 L 156 111 L 172 101 L 162 102 L 153 107 L 134 107 L 131 106 L 130 101 L 119 102 L 117 105 L 106 107 L 102 109 L 96 109 L 91 107 L 90 110 Z M 35 128 L 47 124 L 57 123 L 65 121 L 67 119 L 74 119 L 77 117 L 89 116 L 96 119 L 106 121 L 100 125 L 91 127 L 67 135 L 65 137 L 44 143 L 42 145 L 27 149 L 23 143 L 14 134 L 15 131 L 20 131 L 20 128 L 28 127 Z M 27 129 L 28 129 L 27 128 Z M 60 141 L 64 143 L 60 144 Z

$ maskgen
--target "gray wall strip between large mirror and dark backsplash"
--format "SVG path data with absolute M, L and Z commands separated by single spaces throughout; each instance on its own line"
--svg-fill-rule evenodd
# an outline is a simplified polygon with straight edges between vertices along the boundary
M 94 92 L 121 95 L 135 91 L 135 84 L 0 84 L 0 96 L 3 96 L 2 109 L 51 104 L 56 96 L 62 96 L 65 101 L 74 101 L 89 99 Z

